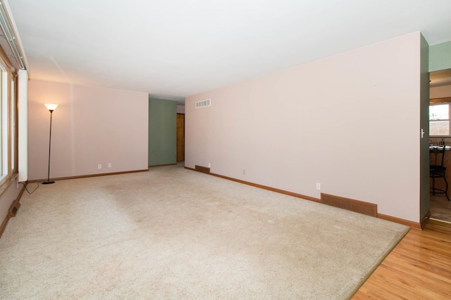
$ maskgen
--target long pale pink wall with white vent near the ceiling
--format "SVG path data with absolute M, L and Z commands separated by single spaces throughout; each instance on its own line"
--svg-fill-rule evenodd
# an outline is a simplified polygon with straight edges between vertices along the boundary
M 418 222 L 420 41 L 414 32 L 187 97 L 185 166 Z

